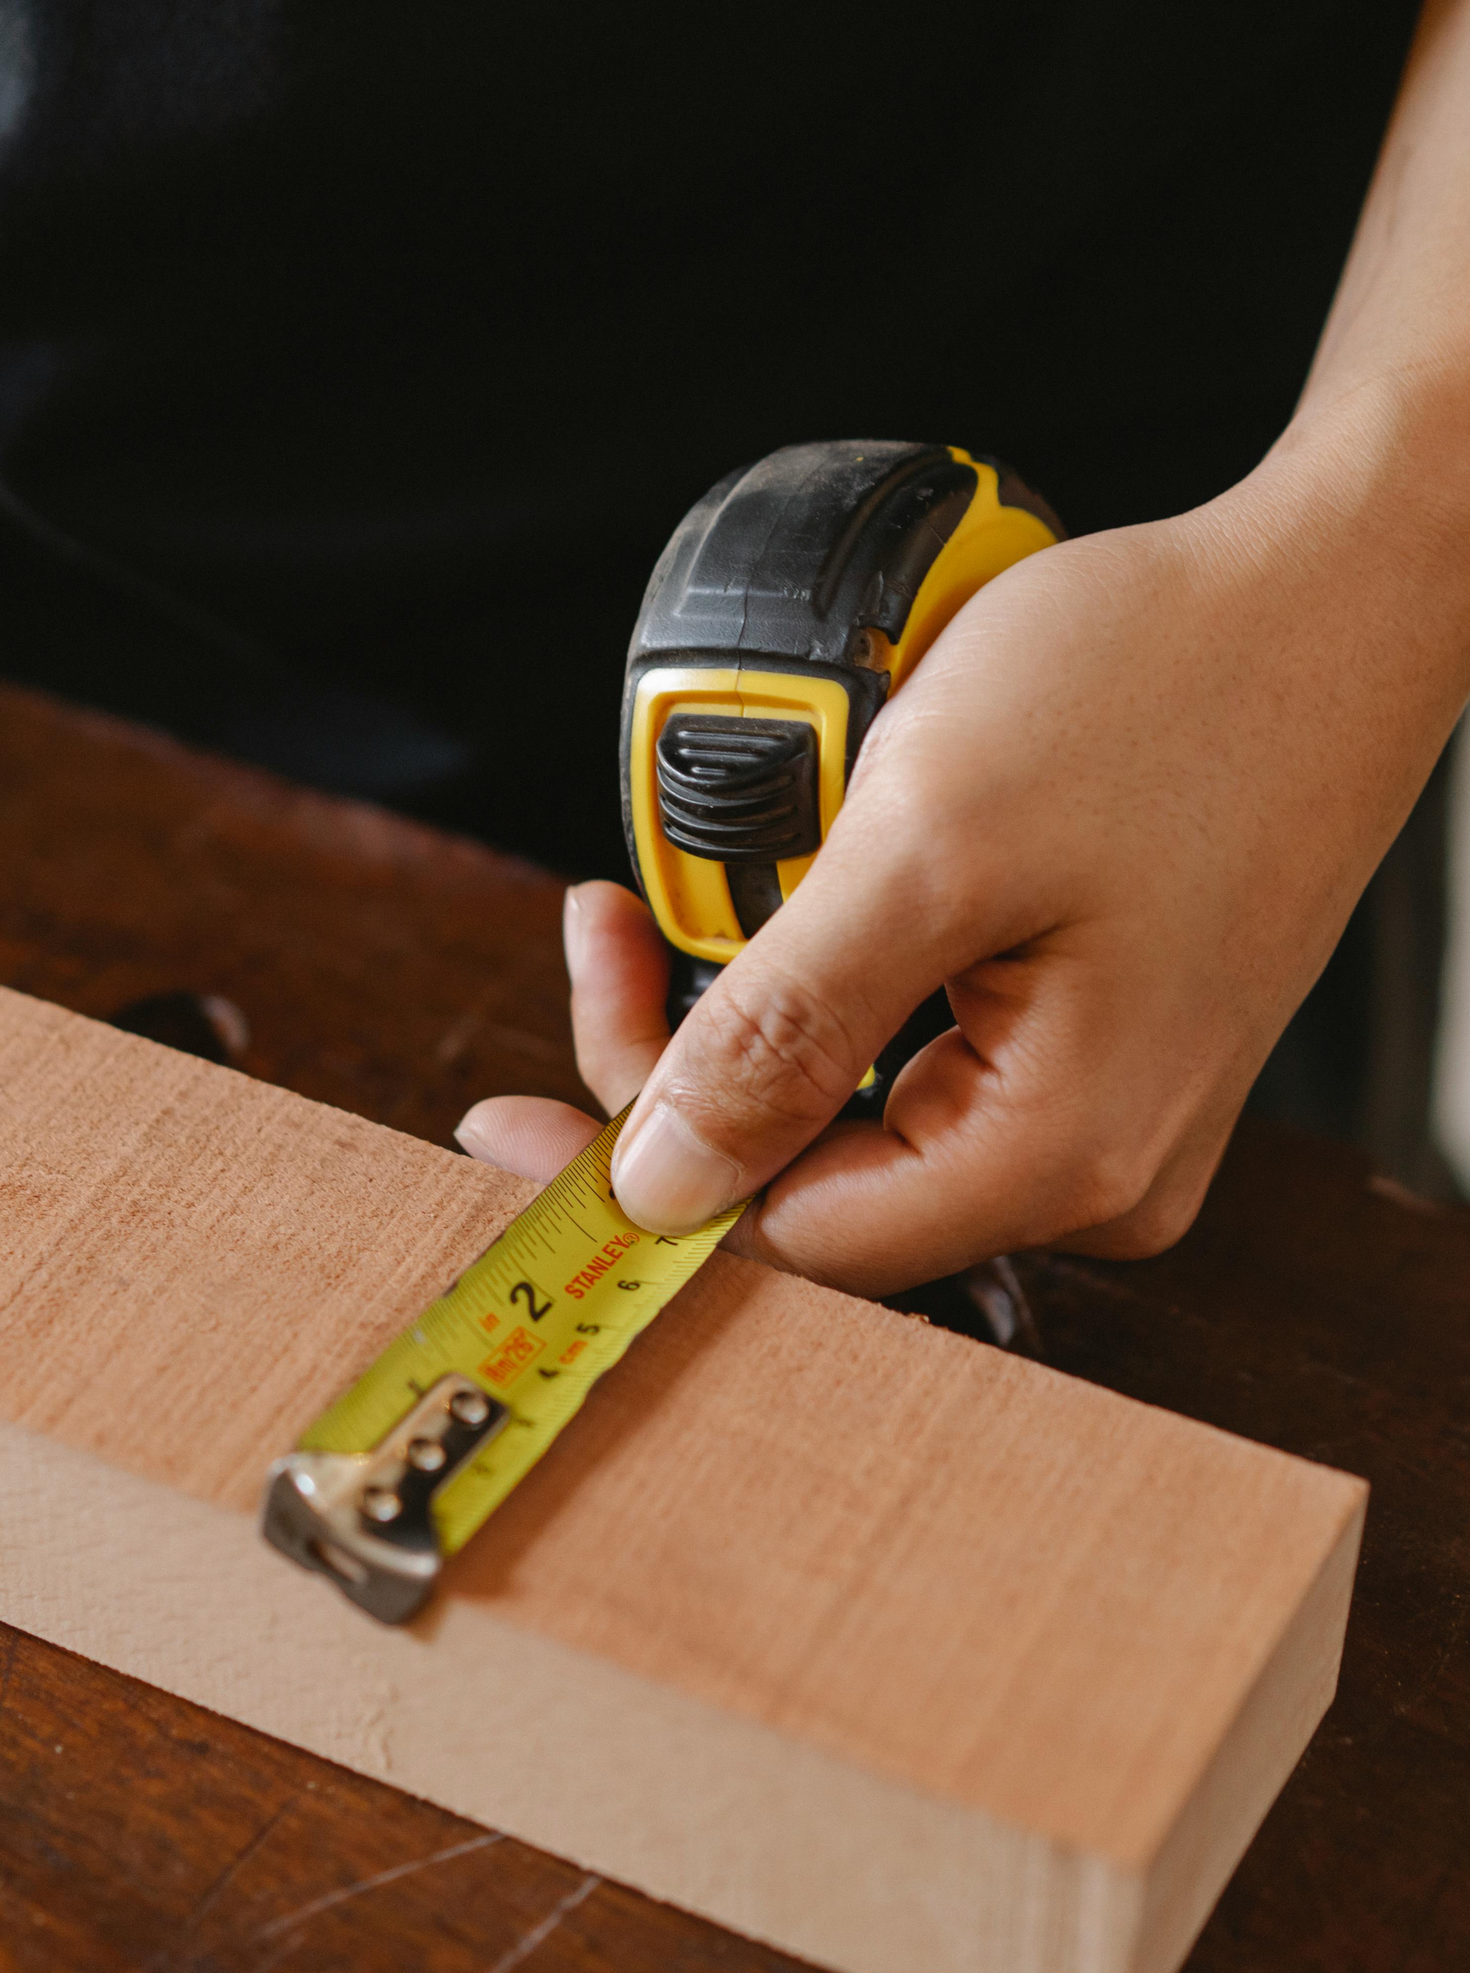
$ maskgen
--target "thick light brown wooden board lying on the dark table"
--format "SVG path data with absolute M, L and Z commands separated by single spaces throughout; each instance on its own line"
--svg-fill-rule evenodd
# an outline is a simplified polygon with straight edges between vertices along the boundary
M 0 994 L 0 1618 L 850 1973 L 1174 1967 L 1361 1484 L 716 1257 L 385 1632 L 260 1472 L 525 1198 Z

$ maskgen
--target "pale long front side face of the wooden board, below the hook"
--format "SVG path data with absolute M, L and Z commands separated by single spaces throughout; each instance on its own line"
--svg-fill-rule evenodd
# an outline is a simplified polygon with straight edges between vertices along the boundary
M 750 1937 L 843 1973 L 1133 1961 L 1144 1888 L 1105 1859 L 472 1602 L 446 1602 L 430 1667 L 424 1636 L 284 1569 L 247 1515 L 22 1426 L 0 1425 L 0 1488 L 4 1622 Z M 296 1675 L 260 1681 L 262 1655 Z

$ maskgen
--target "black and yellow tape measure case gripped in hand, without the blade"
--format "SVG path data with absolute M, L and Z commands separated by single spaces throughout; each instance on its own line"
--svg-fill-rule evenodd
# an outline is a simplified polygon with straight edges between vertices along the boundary
M 677 1024 L 793 894 L 880 708 L 979 588 L 1064 537 L 1000 460 L 831 440 L 728 474 L 675 529 L 627 651 L 624 829 L 675 951 Z M 845 1115 L 953 1014 L 943 994 Z

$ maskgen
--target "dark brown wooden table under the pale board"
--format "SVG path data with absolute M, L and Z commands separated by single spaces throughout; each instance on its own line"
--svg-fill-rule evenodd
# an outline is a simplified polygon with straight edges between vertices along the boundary
M 241 1067 L 444 1142 L 479 1095 L 578 1101 L 558 902 L 489 850 L 0 691 L 0 981 L 26 992 L 223 994 Z M 1192 1973 L 1470 1965 L 1470 1213 L 1245 1127 L 1172 1253 L 1020 1275 L 1056 1367 L 1373 1484 L 1338 1703 Z M 0 1626 L 6 1973 L 523 1965 L 795 1961 Z

